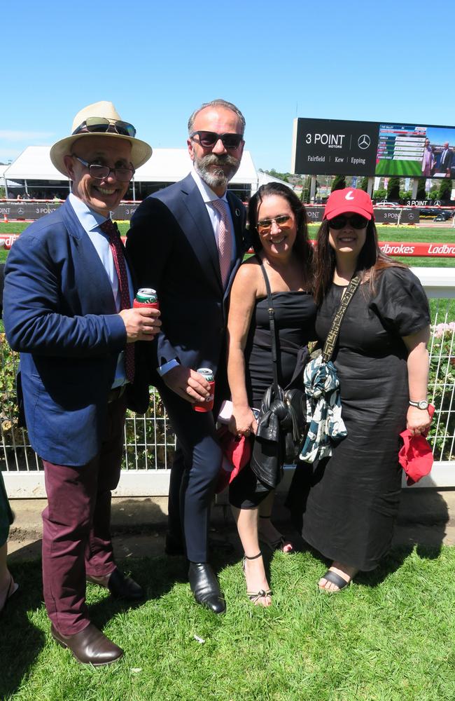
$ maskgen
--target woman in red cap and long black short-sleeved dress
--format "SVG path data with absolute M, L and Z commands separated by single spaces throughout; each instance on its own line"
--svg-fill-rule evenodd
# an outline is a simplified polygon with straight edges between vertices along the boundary
M 330 457 L 302 463 L 290 492 L 303 538 L 332 560 L 318 586 L 339 592 L 358 571 L 374 569 L 391 545 L 401 491 L 399 434 L 409 428 L 418 435 L 430 425 L 430 314 L 416 276 L 379 250 L 372 202 L 362 190 L 328 198 L 315 268 L 321 343 L 349 281 L 360 277 L 332 355 L 347 436 Z

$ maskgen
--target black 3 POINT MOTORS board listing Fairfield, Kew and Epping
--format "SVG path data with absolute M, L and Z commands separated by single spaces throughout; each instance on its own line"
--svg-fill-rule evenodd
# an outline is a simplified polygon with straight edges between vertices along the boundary
M 374 175 L 377 122 L 294 120 L 293 172 L 305 175 Z

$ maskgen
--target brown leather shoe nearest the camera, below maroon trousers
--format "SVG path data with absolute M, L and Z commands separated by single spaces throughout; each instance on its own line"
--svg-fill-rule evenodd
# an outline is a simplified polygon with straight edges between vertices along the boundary
M 93 623 L 73 635 L 58 633 L 54 625 L 50 625 L 50 633 L 62 648 L 68 648 L 82 665 L 111 665 L 123 656 L 119 648 L 109 638 L 106 638 Z

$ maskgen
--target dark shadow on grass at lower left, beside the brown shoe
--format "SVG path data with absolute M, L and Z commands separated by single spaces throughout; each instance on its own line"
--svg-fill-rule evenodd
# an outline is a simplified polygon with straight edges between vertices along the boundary
M 29 612 L 41 607 L 41 562 L 11 567 L 19 590 L 0 618 L 0 698 L 14 695 L 44 647 L 45 636 L 30 620 Z

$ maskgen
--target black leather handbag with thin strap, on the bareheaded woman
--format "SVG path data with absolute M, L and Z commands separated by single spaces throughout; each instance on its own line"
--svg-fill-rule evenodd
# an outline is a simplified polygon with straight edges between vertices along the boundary
M 250 464 L 260 482 L 274 489 L 281 479 L 283 464 L 293 464 L 300 449 L 307 423 L 306 400 L 303 390 L 293 388 L 285 391 L 279 385 L 279 339 L 276 334 L 272 292 L 262 261 L 260 268 L 269 304 L 274 381 L 262 397 Z

